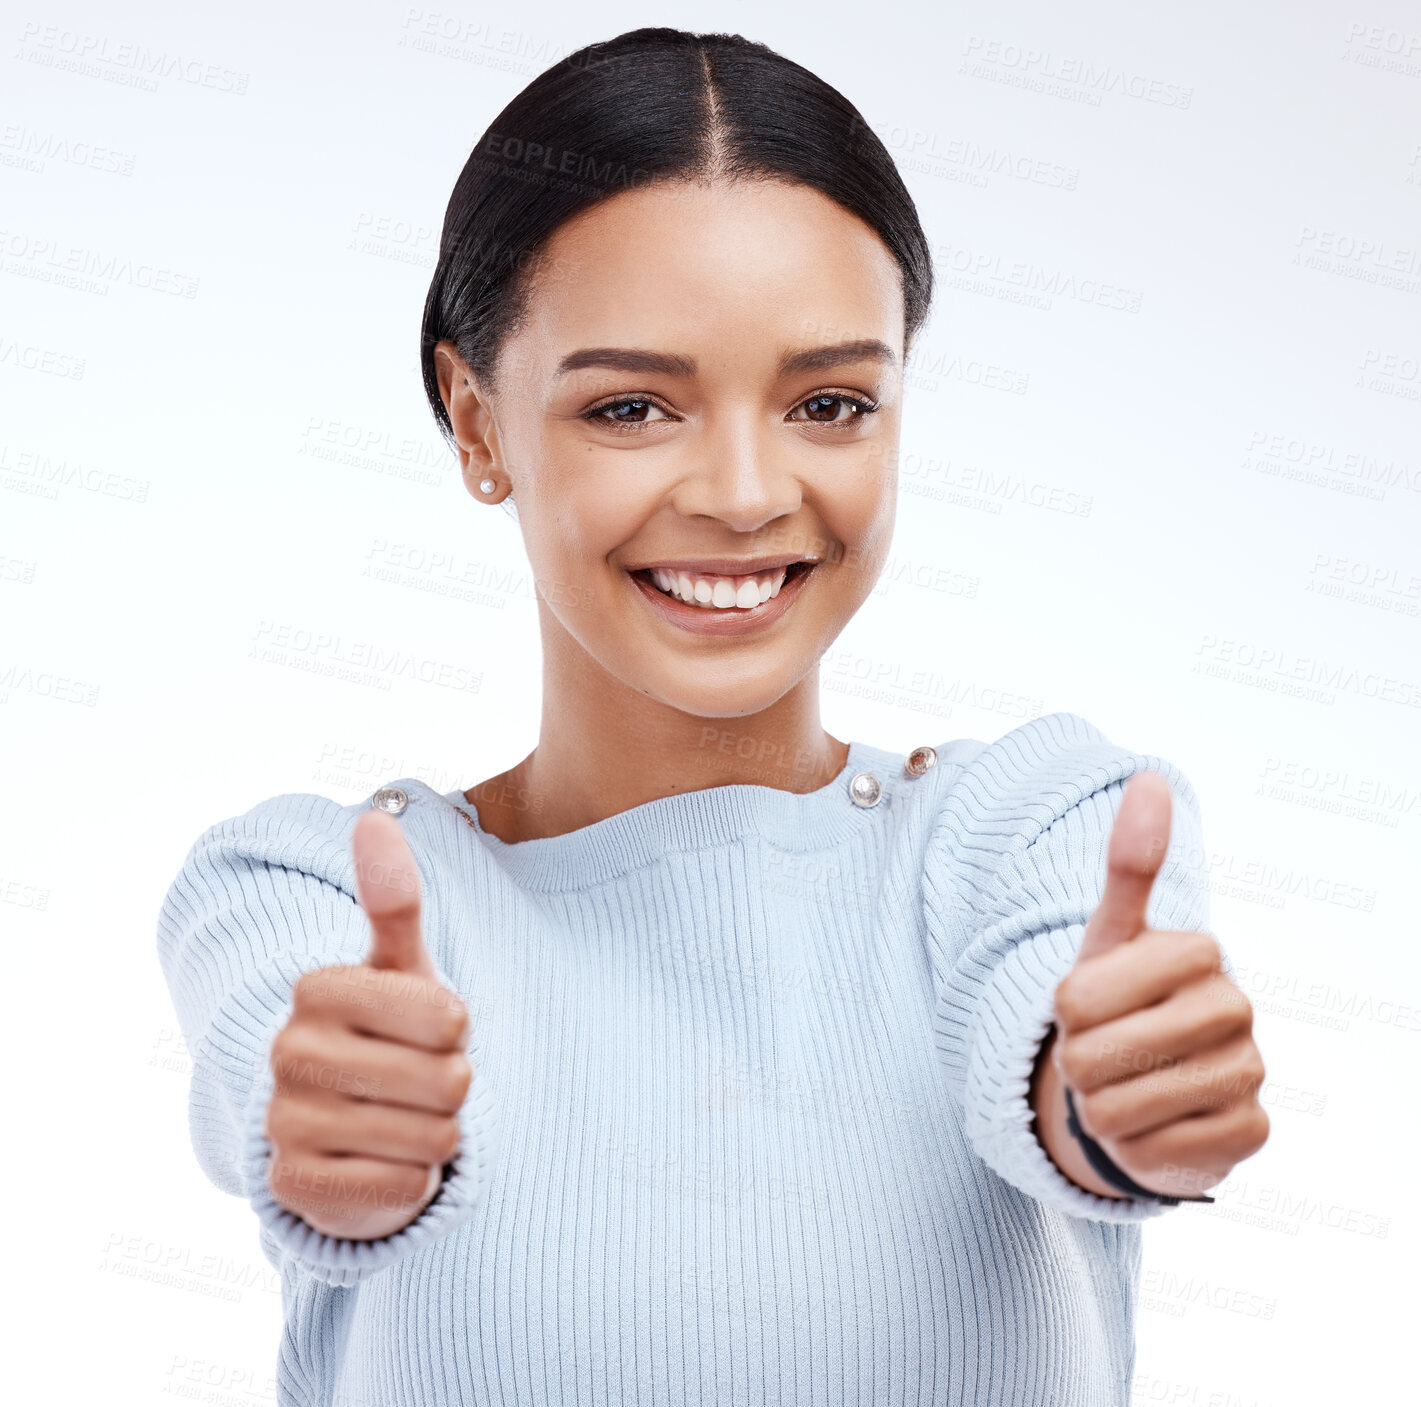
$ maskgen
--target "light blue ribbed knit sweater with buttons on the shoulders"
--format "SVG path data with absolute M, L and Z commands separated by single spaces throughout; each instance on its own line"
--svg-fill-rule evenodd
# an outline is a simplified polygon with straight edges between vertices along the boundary
M 438 1197 L 371 1242 L 280 1208 L 263 1136 L 291 983 L 365 961 L 368 799 L 205 831 L 159 956 L 198 1160 L 281 1272 L 279 1401 L 1124 1407 L 1162 1208 L 1069 1182 L 1026 1090 L 1135 770 L 1175 797 L 1150 922 L 1208 928 L 1195 794 L 1064 712 L 936 752 L 519 844 L 392 780 L 476 1074 Z

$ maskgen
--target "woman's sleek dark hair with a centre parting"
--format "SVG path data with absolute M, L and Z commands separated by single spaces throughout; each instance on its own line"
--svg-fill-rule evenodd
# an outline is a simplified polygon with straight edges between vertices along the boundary
M 904 340 L 932 300 L 932 257 L 887 148 L 821 78 L 740 34 L 647 27 L 568 54 L 493 119 L 449 198 L 425 300 L 425 395 L 452 426 L 433 348 L 450 340 L 496 391 L 553 232 L 655 180 L 759 178 L 821 190 L 878 233 L 902 270 Z

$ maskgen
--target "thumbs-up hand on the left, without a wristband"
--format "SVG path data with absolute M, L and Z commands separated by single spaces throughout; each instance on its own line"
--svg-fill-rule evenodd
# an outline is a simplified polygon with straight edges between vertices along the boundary
M 433 1200 L 473 1067 L 468 1012 L 439 983 L 419 929 L 419 871 L 399 821 L 364 812 L 351 848 L 369 954 L 291 989 L 269 1055 L 267 1185 L 317 1231 L 372 1241 Z

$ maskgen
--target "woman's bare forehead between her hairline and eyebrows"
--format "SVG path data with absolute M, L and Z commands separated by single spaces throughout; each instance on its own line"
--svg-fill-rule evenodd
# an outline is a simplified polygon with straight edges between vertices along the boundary
M 526 333 L 547 357 L 719 343 L 759 361 L 858 337 L 901 352 L 902 284 L 878 234 L 810 186 L 658 182 L 554 232 Z

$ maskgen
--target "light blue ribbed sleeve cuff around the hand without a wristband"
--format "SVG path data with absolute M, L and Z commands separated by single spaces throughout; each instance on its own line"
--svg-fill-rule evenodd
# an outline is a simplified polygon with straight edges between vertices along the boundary
M 436 971 L 443 986 L 458 991 L 442 971 Z M 273 1029 L 271 1036 L 277 1029 L 280 1028 Z M 242 1165 L 244 1192 L 261 1224 L 263 1241 L 274 1245 L 283 1258 L 327 1285 L 354 1285 L 448 1235 L 475 1214 L 483 1201 L 497 1155 L 499 1107 L 473 1049 L 468 1055 L 475 1074 L 458 1114 L 459 1150 L 445 1164 L 439 1190 L 406 1227 L 374 1241 L 355 1241 L 317 1231 L 271 1194 L 267 1182 L 271 1143 L 266 1136 L 266 1113 L 276 1076 L 269 1057 L 270 1039 L 266 1049 L 267 1057 L 243 1114 Z

